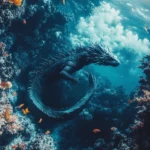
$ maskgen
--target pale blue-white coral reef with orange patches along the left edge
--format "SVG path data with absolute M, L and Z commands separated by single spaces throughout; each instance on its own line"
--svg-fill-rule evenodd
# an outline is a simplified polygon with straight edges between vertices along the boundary
M 1 81 L 3 81 L 0 85 L 4 87 L 8 80 L 13 81 L 14 75 L 19 73 L 14 73 L 18 72 L 18 69 L 10 59 L 12 57 L 8 57 L 11 55 L 4 55 L 5 44 L 2 42 L 0 42 L 0 49 Z M 5 73 L 3 74 L 3 72 Z M 17 88 L 18 86 L 13 81 L 9 88 L 0 89 L 0 148 L 7 150 L 55 150 L 56 147 L 52 137 L 45 134 L 44 131 L 38 130 L 27 113 L 22 113 L 21 108 L 24 104 L 16 106 L 17 92 L 15 91 L 18 90 Z

